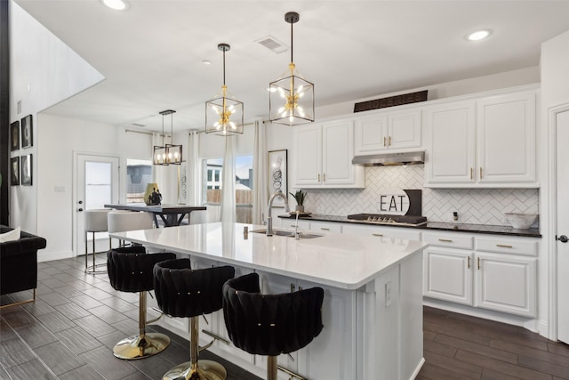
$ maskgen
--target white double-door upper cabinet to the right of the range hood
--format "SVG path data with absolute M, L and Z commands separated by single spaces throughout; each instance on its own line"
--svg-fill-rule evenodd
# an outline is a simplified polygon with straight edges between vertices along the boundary
M 425 187 L 535 188 L 535 91 L 425 109 Z

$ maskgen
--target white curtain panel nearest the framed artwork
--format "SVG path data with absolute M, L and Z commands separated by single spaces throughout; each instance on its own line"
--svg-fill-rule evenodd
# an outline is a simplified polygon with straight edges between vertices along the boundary
M 267 195 L 267 141 L 265 125 L 255 121 L 252 149 L 252 222 L 262 224 Z

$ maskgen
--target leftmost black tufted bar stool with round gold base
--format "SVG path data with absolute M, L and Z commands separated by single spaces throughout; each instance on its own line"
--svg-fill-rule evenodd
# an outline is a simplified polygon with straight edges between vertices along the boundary
M 120 359 L 142 359 L 162 352 L 170 338 L 160 333 L 147 333 L 146 295 L 154 289 L 152 270 L 156 263 L 175 259 L 172 253 L 147 254 L 144 247 L 122 247 L 107 253 L 107 271 L 110 285 L 120 292 L 139 293 L 139 334 L 129 336 L 115 345 L 113 353 Z

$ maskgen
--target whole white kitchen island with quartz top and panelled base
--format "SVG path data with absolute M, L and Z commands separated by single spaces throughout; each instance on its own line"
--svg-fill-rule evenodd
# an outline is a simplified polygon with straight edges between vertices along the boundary
M 323 287 L 322 333 L 291 357 L 280 355 L 279 366 L 311 380 L 407 380 L 418 374 L 424 361 L 422 250 L 426 244 L 336 233 L 313 239 L 301 235 L 297 240 L 255 232 L 263 229 L 216 222 L 110 235 L 149 250 L 188 255 L 193 268 L 228 264 L 236 268 L 236 276 L 257 271 L 263 293 Z M 188 337 L 188 320 L 161 320 L 164 327 Z M 222 312 L 213 313 L 209 325 L 201 325 L 209 334 L 228 339 Z M 200 335 L 204 343 L 207 337 Z M 265 374 L 263 357 L 222 342 L 209 350 L 258 376 Z

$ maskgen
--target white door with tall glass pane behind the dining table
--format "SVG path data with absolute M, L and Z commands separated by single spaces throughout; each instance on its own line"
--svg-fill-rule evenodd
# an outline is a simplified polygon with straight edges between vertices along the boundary
M 103 208 L 119 200 L 119 158 L 108 156 L 76 155 L 75 241 L 76 255 L 85 253 L 84 211 Z M 92 234 L 87 237 L 92 249 Z M 96 250 L 108 249 L 108 234 L 95 234 Z M 91 252 L 91 251 L 89 251 Z

